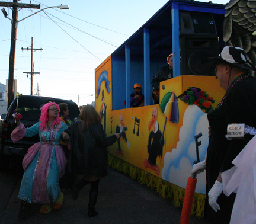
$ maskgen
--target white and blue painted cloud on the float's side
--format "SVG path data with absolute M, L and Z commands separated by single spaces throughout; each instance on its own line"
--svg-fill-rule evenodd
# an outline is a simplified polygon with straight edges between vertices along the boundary
M 194 136 L 200 132 L 203 134 L 197 141 L 199 146 L 200 162 L 206 158 L 208 146 L 207 114 L 203 113 L 196 105 L 187 107 L 184 113 L 183 126 L 180 129 L 179 141 L 176 148 L 164 155 L 164 168 L 162 178 L 172 184 L 186 188 L 193 162 L 197 159 L 196 143 Z M 196 192 L 205 194 L 206 172 L 197 175 Z

